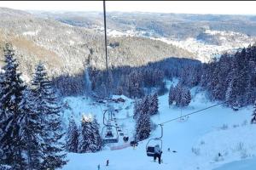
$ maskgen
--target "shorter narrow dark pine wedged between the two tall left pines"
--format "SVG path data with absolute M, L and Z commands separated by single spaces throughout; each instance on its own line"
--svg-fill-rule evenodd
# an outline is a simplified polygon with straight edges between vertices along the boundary
M 44 140 L 40 135 L 43 127 L 40 123 L 39 111 L 34 109 L 34 105 L 33 96 L 30 90 L 26 88 L 20 102 L 20 112 L 24 115 L 21 140 L 26 143 L 22 149 L 26 152 L 26 169 L 28 170 L 38 169 L 40 160 L 44 157 L 41 148 L 41 145 L 44 145 Z

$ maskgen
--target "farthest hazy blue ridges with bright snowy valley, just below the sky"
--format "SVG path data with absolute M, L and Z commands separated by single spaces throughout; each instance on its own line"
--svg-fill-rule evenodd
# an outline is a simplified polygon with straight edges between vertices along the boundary
M 101 12 L 38 12 L 38 17 L 103 33 Z M 147 37 L 188 50 L 203 62 L 256 42 L 253 15 L 108 12 L 111 37 Z

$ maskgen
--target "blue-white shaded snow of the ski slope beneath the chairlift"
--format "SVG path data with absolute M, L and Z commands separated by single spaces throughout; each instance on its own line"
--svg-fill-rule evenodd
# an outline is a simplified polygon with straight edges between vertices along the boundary
M 174 83 L 176 83 L 175 81 Z M 168 83 L 170 87 L 171 82 Z M 188 108 L 180 109 L 168 105 L 168 94 L 159 97 L 160 114 L 152 116 L 154 123 L 166 122 L 172 118 L 185 115 L 192 111 L 201 110 L 207 106 L 214 105 L 217 102 L 209 102 L 204 92 L 198 91 L 198 88 L 192 88 L 193 99 Z M 125 103 L 113 104 L 114 109 L 119 110 L 115 114 L 117 122 L 125 136 L 132 139 L 135 122 L 132 119 L 133 100 L 125 96 L 122 97 Z M 83 97 L 67 98 L 70 109 L 67 109 L 63 116 L 65 120 L 73 115 L 78 124 L 82 114 L 94 114 L 98 122 L 102 124 L 102 110 L 105 105 L 95 105 L 90 99 Z M 152 157 L 146 155 L 147 140 L 139 142 L 136 148 L 124 147 L 122 150 L 110 150 L 113 146 L 122 146 L 124 141 L 119 138 L 118 144 L 111 144 L 97 153 L 74 154 L 69 153 L 67 165 L 63 169 L 82 170 L 97 169 L 101 165 L 101 170 L 141 170 L 147 168 L 154 169 L 175 169 L 175 170 L 223 170 L 220 167 L 232 161 L 238 161 L 243 164 L 254 158 L 256 153 L 256 126 L 251 125 L 249 120 L 253 107 L 248 106 L 240 111 L 232 111 L 222 105 L 218 105 L 209 110 L 199 112 L 189 116 L 185 121 L 177 120 L 164 124 L 163 140 L 163 163 L 158 164 Z M 160 127 L 151 133 L 151 138 L 160 136 Z M 130 140 L 129 142 L 130 143 Z M 170 148 L 170 152 L 167 151 Z M 177 152 L 172 152 L 176 150 Z M 221 156 L 218 156 L 218 153 Z M 109 160 L 109 166 L 106 167 L 106 161 Z M 250 165 L 255 165 L 250 161 Z M 238 167 L 236 162 L 227 164 L 228 167 Z M 228 168 L 227 168 L 228 169 Z M 232 169 L 232 168 L 231 168 Z M 240 168 L 241 169 L 241 168 Z M 246 168 L 248 169 L 248 168 Z M 235 168 L 233 169 L 235 170 Z M 237 169 L 238 170 L 238 169 Z

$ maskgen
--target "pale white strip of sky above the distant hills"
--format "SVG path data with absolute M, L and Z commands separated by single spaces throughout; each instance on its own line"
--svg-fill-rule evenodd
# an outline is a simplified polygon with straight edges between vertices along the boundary
M 102 1 L 0 1 L 22 10 L 102 11 Z M 256 14 L 256 1 L 106 1 L 106 10 L 180 14 Z

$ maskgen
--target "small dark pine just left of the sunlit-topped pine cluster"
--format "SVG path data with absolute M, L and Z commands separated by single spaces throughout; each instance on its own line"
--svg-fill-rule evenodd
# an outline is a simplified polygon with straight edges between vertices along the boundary
M 79 147 L 79 129 L 73 118 L 69 120 L 66 138 L 66 149 L 69 152 L 78 153 Z

